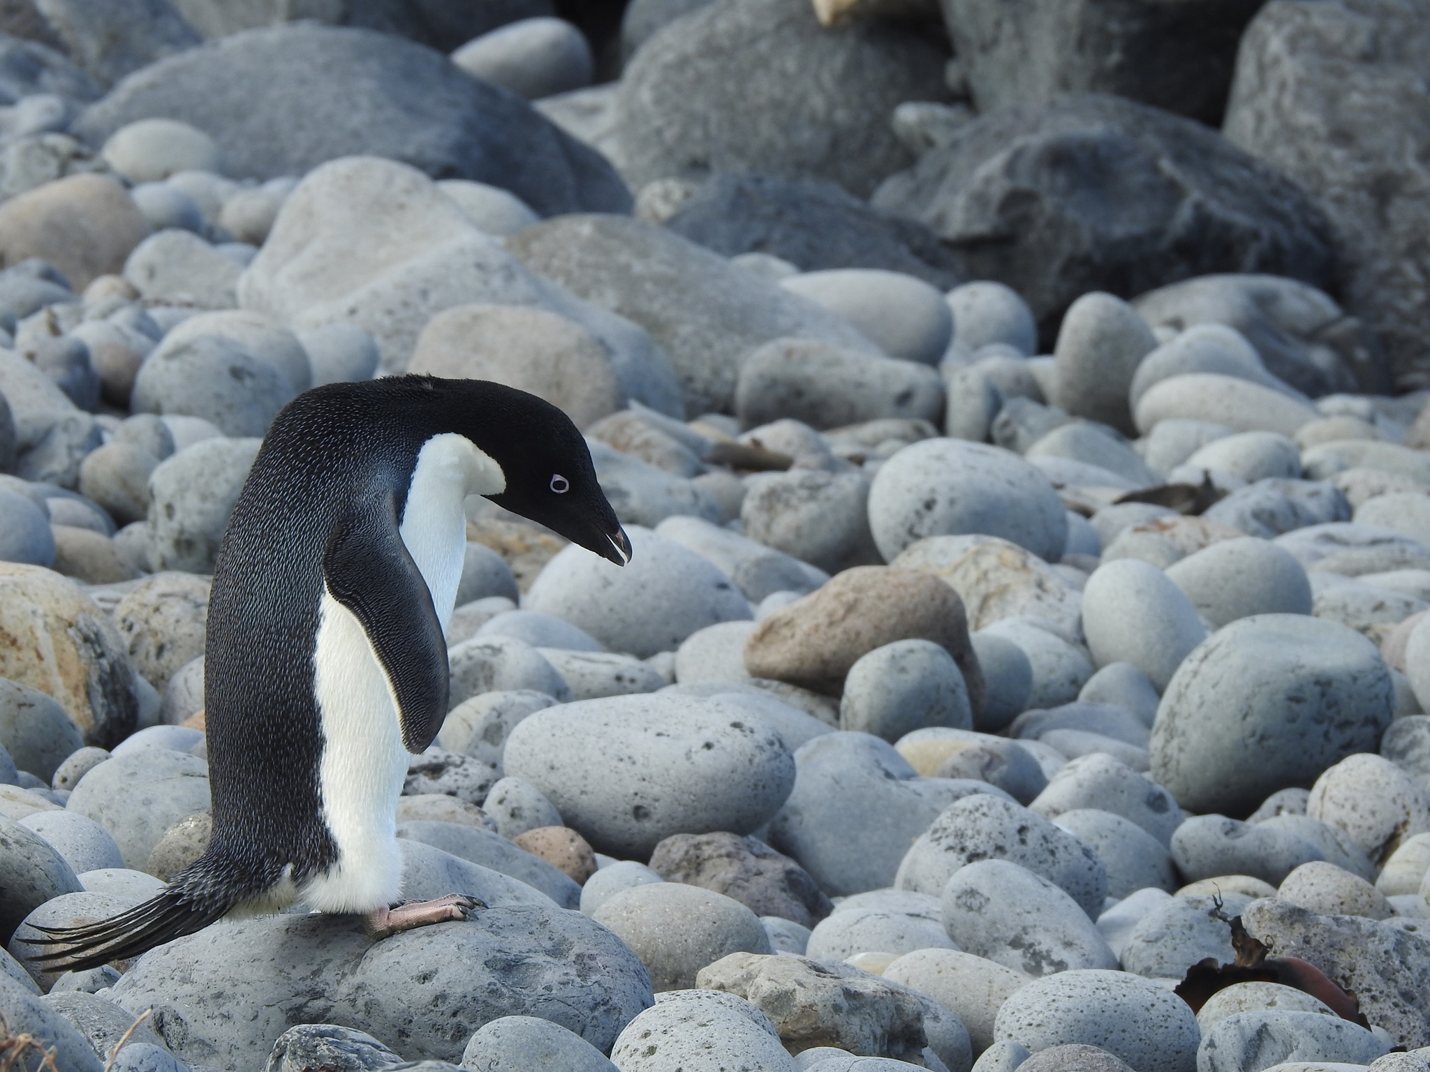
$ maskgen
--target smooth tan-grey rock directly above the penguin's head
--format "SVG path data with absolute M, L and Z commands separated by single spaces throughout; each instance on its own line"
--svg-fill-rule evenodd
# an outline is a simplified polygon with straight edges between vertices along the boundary
M 519 387 L 559 406 L 576 427 L 625 405 L 606 347 L 545 309 L 466 304 L 438 313 L 408 372 Z

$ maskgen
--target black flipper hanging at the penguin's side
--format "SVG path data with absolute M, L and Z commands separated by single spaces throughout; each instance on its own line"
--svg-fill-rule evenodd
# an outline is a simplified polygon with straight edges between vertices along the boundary
M 423 752 L 448 713 L 446 636 L 432 593 L 398 532 L 392 490 L 360 496 L 323 552 L 329 595 L 362 623 L 392 685 L 408 752 Z

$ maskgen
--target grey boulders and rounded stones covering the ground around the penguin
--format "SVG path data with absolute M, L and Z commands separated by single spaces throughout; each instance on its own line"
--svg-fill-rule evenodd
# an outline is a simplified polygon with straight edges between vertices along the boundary
M 1430 0 L 0 31 L 0 1069 L 1430 1069 Z M 635 549 L 469 503 L 398 833 L 490 908 L 40 972 L 207 843 L 269 423 L 405 370 Z

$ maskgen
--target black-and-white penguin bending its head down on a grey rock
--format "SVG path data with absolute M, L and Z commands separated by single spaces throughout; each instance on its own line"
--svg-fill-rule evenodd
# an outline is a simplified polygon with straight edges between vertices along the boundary
M 408 755 L 448 713 L 469 495 L 631 557 L 585 440 L 533 394 L 403 376 L 316 387 L 277 416 L 213 572 L 209 849 L 122 915 L 36 928 L 47 971 L 293 902 L 363 913 L 376 936 L 468 916 L 475 902 L 456 895 L 395 903 L 395 826 Z

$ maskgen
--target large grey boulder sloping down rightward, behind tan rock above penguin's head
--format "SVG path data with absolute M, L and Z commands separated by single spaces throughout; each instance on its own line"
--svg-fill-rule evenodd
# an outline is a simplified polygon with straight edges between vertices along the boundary
M 633 320 L 665 350 L 689 413 L 729 412 L 745 357 L 805 337 L 882 356 L 845 320 L 664 227 L 566 216 L 513 234 L 528 269 Z

